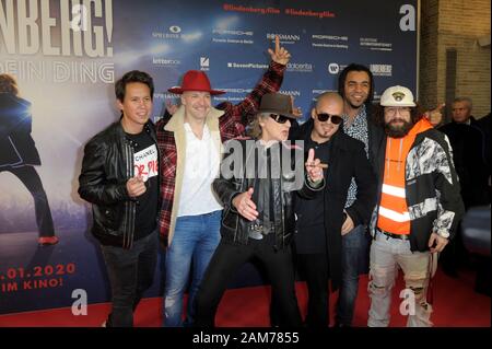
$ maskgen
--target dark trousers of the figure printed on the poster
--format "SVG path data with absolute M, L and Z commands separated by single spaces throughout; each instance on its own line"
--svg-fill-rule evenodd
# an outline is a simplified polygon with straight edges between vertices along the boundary
M 39 230 L 39 236 L 54 236 L 51 211 L 49 209 L 48 198 L 46 197 L 43 183 L 34 166 L 5 167 L 0 172 L 9 171 L 15 175 L 25 185 L 34 199 L 34 210 L 36 212 L 36 223 Z

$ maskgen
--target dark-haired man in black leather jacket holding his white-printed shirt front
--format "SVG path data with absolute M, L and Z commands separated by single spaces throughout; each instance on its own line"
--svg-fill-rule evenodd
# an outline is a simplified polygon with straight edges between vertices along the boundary
M 107 326 L 130 327 L 157 260 L 157 147 L 152 113 L 154 85 L 141 71 L 116 82 L 121 117 L 85 146 L 81 198 L 93 203 L 92 233 L 99 241 L 112 284 Z

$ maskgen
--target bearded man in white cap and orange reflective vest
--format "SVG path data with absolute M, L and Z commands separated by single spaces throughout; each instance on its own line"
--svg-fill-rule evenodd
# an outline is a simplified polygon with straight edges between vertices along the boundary
M 407 326 L 432 326 L 426 293 L 435 253 L 453 239 L 465 210 L 458 177 L 447 137 L 420 116 L 409 89 L 387 89 L 380 106 L 386 141 L 377 159 L 377 205 L 370 224 L 367 325 L 388 326 L 399 266 L 411 291 Z

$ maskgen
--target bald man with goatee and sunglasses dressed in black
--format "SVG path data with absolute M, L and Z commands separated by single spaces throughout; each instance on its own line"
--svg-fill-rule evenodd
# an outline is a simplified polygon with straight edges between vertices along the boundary
M 312 118 L 291 133 L 314 149 L 325 170 L 326 186 L 314 200 L 300 199 L 295 246 L 300 270 L 308 290 L 305 324 L 325 327 L 329 323 L 328 279 L 332 289 L 342 280 L 342 224 L 350 219 L 355 225 L 368 220 L 374 207 L 376 182 L 364 152 L 364 144 L 342 130 L 343 100 L 338 93 L 319 95 Z M 345 206 L 351 179 L 358 185 L 356 199 Z

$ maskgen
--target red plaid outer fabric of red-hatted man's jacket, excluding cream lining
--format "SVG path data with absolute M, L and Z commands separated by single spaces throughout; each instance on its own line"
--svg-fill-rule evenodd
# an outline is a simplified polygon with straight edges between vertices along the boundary
M 261 81 L 241 103 L 233 105 L 230 102 L 223 102 L 215 108 L 224 110 L 224 115 L 219 118 L 219 130 L 221 141 L 242 136 L 245 125 L 255 116 L 258 110 L 261 96 L 269 92 L 277 92 L 283 80 L 285 66 L 271 62 L 265 72 Z M 174 132 L 167 131 L 164 127 L 171 117 L 157 121 L 157 146 L 161 153 L 161 209 L 159 212 L 159 229 L 162 242 L 166 245 L 168 241 L 171 217 L 173 213 L 174 193 L 176 187 L 176 165 L 177 150 L 174 139 Z

